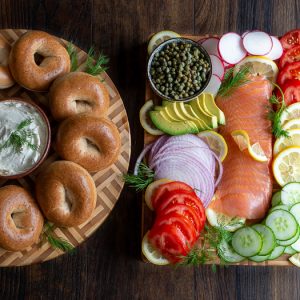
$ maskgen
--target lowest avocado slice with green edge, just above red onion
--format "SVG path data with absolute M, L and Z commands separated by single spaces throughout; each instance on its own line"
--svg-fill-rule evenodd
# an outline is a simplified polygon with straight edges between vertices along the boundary
M 172 121 L 163 111 L 150 111 L 153 124 L 161 131 L 170 135 L 198 133 L 197 126 L 191 121 Z

